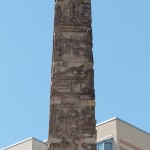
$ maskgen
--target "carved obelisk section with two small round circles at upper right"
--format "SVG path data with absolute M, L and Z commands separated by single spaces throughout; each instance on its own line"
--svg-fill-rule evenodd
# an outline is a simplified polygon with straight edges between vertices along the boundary
M 53 78 L 54 93 L 78 94 L 80 99 L 94 97 L 93 69 L 71 68 L 66 72 L 56 73 Z M 74 95 L 73 95 L 74 96 Z

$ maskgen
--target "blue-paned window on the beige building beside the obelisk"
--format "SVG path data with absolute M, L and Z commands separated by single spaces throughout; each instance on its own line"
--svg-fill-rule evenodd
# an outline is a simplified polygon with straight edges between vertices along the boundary
M 97 150 L 113 150 L 112 139 L 97 143 Z

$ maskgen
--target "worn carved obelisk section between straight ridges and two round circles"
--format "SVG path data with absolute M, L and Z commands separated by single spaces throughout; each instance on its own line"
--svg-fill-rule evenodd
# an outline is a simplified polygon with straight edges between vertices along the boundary
M 55 61 L 65 62 L 93 62 L 92 46 L 80 41 L 62 41 L 55 48 Z

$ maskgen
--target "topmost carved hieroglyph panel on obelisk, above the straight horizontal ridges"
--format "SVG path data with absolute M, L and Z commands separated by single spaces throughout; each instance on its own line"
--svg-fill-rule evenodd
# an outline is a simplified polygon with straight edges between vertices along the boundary
M 55 21 L 65 25 L 88 25 L 91 24 L 91 5 L 89 1 L 64 0 L 57 1 Z

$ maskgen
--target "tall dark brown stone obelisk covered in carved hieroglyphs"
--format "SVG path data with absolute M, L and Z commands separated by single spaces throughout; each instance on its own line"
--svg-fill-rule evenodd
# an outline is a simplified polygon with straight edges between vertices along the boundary
M 96 150 L 91 0 L 55 0 L 49 150 Z

